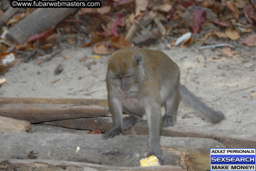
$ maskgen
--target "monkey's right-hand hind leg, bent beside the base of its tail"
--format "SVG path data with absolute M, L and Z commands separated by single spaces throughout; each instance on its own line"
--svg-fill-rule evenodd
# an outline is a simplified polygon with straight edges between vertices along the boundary
M 163 127 L 173 126 L 176 121 L 177 110 L 180 103 L 179 88 L 173 91 L 165 102 L 165 116 L 162 119 Z

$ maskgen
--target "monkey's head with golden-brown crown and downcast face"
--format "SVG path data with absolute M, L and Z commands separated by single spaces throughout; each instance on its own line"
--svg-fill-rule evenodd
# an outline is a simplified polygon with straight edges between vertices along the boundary
M 132 95 L 139 89 L 142 55 L 129 47 L 113 53 L 108 61 L 107 87 Z

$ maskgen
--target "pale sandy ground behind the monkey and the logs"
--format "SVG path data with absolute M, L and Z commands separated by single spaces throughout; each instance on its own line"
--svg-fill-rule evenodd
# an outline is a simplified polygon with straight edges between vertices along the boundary
M 241 53 L 232 58 L 219 56 L 222 53 L 217 49 L 205 49 L 206 62 L 194 46 L 162 50 L 179 65 L 180 82 L 208 105 L 223 111 L 227 118 L 218 124 L 210 124 L 180 104 L 178 123 L 256 133 L 256 99 L 251 98 L 251 94 L 256 93 L 256 48 L 238 46 Z M 79 58 L 92 57 L 91 52 L 91 47 L 66 49 L 41 65 L 37 62 L 45 56 L 12 67 L 3 75 L 7 83 L 0 89 L 0 96 L 106 99 L 105 75 L 109 56 L 79 62 Z M 64 59 L 63 55 L 72 58 Z M 58 64 L 62 64 L 64 70 L 54 75 Z M 60 81 L 52 83 L 57 79 Z M 245 89 L 248 87 L 251 88 Z

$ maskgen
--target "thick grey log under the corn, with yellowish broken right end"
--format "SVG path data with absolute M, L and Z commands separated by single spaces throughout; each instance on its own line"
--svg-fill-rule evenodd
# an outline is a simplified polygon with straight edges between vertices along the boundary
M 148 136 L 116 136 L 51 133 L 0 134 L 1 159 L 28 159 L 31 151 L 39 160 L 66 160 L 109 166 L 139 166 L 148 152 Z M 183 169 L 210 169 L 210 148 L 225 148 L 220 142 L 202 138 L 161 137 L 166 165 Z M 77 146 L 80 150 L 77 151 Z M 7 150 L 8 149 L 8 150 Z M 77 151 L 77 152 L 76 152 Z

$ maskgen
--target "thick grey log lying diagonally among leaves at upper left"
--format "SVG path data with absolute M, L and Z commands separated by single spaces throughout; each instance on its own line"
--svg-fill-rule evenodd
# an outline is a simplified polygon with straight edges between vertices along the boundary
M 79 8 L 37 8 L 19 23 L 11 27 L 6 38 L 22 44 L 34 34 L 50 29 Z

